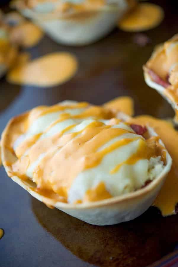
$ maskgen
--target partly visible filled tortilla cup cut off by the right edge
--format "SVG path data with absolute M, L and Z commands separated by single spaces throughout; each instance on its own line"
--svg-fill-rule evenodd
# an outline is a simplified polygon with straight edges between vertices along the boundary
M 156 46 L 143 69 L 145 82 L 171 104 L 178 123 L 178 34 Z

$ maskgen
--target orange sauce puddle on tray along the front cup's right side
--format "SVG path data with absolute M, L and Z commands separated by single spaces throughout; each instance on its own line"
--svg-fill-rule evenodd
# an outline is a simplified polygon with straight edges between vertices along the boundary
M 178 150 L 176 149 L 178 133 L 171 123 L 146 115 L 135 117 L 130 122 L 150 125 L 160 136 L 171 155 L 173 160 L 171 171 L 153 205 L 161 210 L 163 216 L 175 214 L 175 206 L 178 203 Z M 164 152 L 163 156 L 165 157 Z

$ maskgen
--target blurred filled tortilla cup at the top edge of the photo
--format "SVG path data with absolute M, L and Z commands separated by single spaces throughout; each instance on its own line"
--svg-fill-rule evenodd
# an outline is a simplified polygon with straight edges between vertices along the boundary
M 135 0 L 47 2 L 16 0 L 12 7 L 65 45 L 88 45 L 107 35 Z M 77 3 L 78 2 L 78 3 Z

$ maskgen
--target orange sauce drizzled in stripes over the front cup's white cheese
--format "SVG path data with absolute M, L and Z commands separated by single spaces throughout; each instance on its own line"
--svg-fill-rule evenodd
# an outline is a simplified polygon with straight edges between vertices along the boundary
M 124 103 L 129 101 L 130 109 L 128 108 L 127 111 L 129 114 L 133 113 L 132 101 L 129 98 L 126 99 L 126 97 L 123 98 L 123 101 Z M 118 103 L 121 104 L 121 102 L 122 98 L 118 98 Z M 6 144 L 10 147 L 12 153 L 17 156 L 17 160 L 13 164 L 9 162 L 11 167 L 9 176 L 16 175 L 28 183 L 30 180 L 26 172 L 29 166 L 43 155 L 33 171 L 33 177 L 31 178 L 36 183 L 36 187 L 31 189 L 43 197 L 45 204 L 52 207 L 57 201 L 67 202 L 68 190 L 79 173 L 98 166 L 105 155 L 119 147 L 140 138 L 137 153 L 132 155 L 126 162 L 116 166 L 111 171 L 111 174 L 117 172 L 123 164 L 134 164 L 140 159 L 150 159 L 151 156 L 157 156 L 155 149 L 157 146 L 152 146 L 152 142 L 149 142 L 149 139 L 145 141 L 142 136 L 120 139 L 100 150 L 100 147 L 113 138 L 126 133 L 133 133 L 133 131 L 122 128 L 114 128 L 113 125 L 118 124 L 120 120 L 113 118 L 119 110 L 119 105 L 117 108 L 117 99 L 113 103 L 113 107 L 112 103 L 109 103 L 109 106 L 106 104 L 106 107 L 97 107 L 90 106 L 86 102 L 54 105 L 52 107 L 41 106 L 17 117 L 11 125 L 11 131 L 9 131 L 6 140 Z M 125 109 L 122 105 L 121 107 Z M 80 114 L 71 115 L 68 113 L 68 110 L 77 108 L 81 109 Z M 49 124 L 43 132 L 25 139 L 14 151 L 13 145 L 16 139 L 28 132 L 35 120 L 59 111 L 63 113 L 59 114 L 58 119 Z M 76 123 L 73 123 L 52 136 L 41 138 L 57 123 L 68 119 L 83 120 L 91 117 L 95 118 L 94 121 L 80 131 L 70 132 L 76 126 Z M 107 120 L 107 124 L 99 121 L 100 119 Z M 69 133 L 67 133 L 68 131 Z M 26 154 L 27 150 L 28 153 Z M 158 155 L 161 155 L 161 152 Z M 110 197 L 112 196 L 107 191 L 105 183 L 100 182 L 96 187 L 87 190 L 84 198 L 82 200 L 78 199 L 75 203 L 97 201 Z

